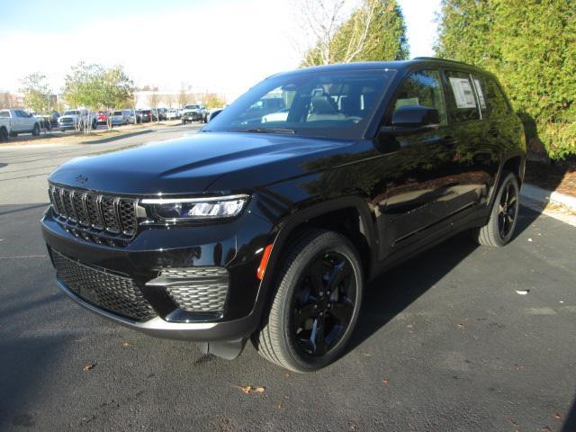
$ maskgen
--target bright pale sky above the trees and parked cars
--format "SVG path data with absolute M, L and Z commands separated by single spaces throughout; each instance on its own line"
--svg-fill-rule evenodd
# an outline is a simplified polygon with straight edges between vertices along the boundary
M 354 0 L 351 0 L 354 1 Z M 399 0 L 410 56 L 431 56 L 440 0 Z M 122 65 L 136 85 L 233 99 L 305 49 L 291 0 L 0 0 L 0 91 L 34 72 L 59 93 L 79 61 Z

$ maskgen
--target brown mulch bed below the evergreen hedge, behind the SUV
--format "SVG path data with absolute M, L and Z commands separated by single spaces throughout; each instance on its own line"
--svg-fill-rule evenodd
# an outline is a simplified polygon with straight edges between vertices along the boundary
M 544 189 L 576 196 L 576 162 L 545 164 L 527 161 L 525 180 Z

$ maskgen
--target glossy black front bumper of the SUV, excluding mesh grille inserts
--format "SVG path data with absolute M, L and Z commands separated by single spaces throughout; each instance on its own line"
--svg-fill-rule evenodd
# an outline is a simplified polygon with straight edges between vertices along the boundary
M 50 210 L 41 225 L 50 257 L 58 252 L 79 265 L 129 278 L 156 312 L 147 320 L 122 316 L 89 296 L 79 295 L 57 275 L 58 285 L 68 297 L 105 319 L 150 336 L 200 342 L 247 338 L 257 329 L 264 299 L 256 276 L 261 257 L 258 251 L 266 247 L 274 227 L 249 211 L 238 220 L 211 227 L 142 228 L 126 247 L 78 238 L 64 229 Z M 166 295 L 166 286 L 158 277 L 162 269 L 193 266 L 228 270 L 228 293 L 221 313 L 185 311 Z

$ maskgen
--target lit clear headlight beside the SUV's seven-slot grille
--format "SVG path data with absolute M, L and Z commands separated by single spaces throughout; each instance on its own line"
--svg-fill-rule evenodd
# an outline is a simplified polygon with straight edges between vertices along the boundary
M 211 220 L 238 216 L 246 205 L 247 199 L 247 195 L 213 198 L 153 198 L 142 200 L 142 204 L 147 204 L 153 215 L 160 220 Z

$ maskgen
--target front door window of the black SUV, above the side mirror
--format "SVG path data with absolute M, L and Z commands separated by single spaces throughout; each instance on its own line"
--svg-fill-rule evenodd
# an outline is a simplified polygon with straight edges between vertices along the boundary
M 401 84 L 394 100 L 394 111 L 401 106 L 421 105 L 436 108 L 440 124 L 446 124 L 446 103 L 440 74 L 436 70 L 414 72 Z

